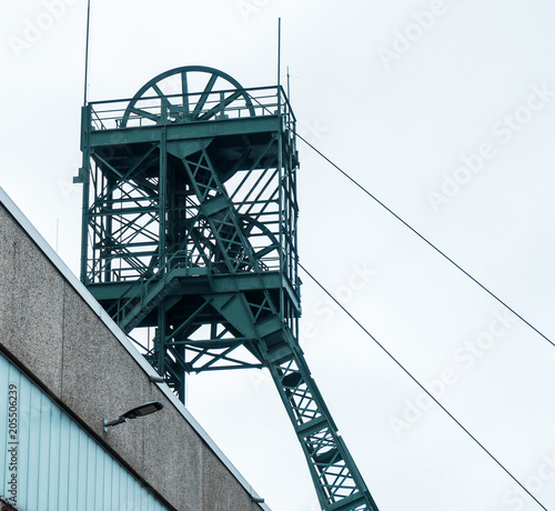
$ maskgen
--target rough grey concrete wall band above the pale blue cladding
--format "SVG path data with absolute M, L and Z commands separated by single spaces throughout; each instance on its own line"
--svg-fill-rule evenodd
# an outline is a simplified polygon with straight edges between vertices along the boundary
M 49 251 L 2 192 L 0 349 L 170 507 L 269 510 L 168 387 L 149 381 L 150 365 Z M 104 433 L 104 417 L 153 400 L 164 409 Z

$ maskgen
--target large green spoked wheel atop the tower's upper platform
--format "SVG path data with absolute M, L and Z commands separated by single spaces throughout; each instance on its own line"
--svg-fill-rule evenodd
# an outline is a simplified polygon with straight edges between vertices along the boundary
M 120 128 L 254 116 L 249 93 L 229 74 L 185 66 L 147 82 L 129 106 Z

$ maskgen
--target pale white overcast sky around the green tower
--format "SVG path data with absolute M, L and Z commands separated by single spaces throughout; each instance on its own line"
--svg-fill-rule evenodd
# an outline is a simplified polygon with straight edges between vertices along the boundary
M 49 1 L 2 1 L 0 186 L 77 273 L 85 1 L 57 19 Z M 555 3 L 93 0 L 89 98 L 132 97 L 186 64 L 274 84 L 280 16 L 301 133 L 555 339 Z M 482 170 L 458 171 L 470 180 L 434 210 L 430 191 L 478 151 Z M 490 342 L 498 303 L 311 150 L 301 158 L 303 264 L 415 377 L 443 374 L 442 403 L 554 509 L 555 348 L 507 320 Z M 382 511 L 539 509 L 435 407 L 395 434 L 421 392 L 303 280 L 309 365 Z M 189 404 L 274 511 L 317 509 L 264 373 L 194 377 Z

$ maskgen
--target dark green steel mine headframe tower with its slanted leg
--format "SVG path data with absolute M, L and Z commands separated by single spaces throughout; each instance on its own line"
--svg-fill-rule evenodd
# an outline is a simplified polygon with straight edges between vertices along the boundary
M 172 69 L 82 110 L 81 280 L 184 401 L 268 368 L 326 511 L 377 511 L 299 344 L 296 121 L 283 89 Z

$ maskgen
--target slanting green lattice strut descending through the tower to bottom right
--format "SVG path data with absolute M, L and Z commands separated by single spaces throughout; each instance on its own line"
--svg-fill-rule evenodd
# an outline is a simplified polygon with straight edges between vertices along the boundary
M 182 159 L 200 200 L 200 210 L 215 233 L 226 270 L 231 274 L 243 270 L 260 274 L 263 268 L 254 257 L 238 211 L 219 182 L 205 148 L 201 148 L 193 160 L 184 156 Z M 260 360 L 270 369 L 303 447 L 321 505 L 326 510 L 376 510 L 311 377 L 299 342 L 291 330 L 283 327 L 283 311 L 278 310 L 263 282 L 255 301 L 239 290 L 218 298 L 223 298 L 225 303 L 218 307 L 221 314 L 228 317 L 230 323 L 244 317 L 248 331 L 243 333 L 254 334 Z

